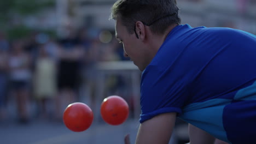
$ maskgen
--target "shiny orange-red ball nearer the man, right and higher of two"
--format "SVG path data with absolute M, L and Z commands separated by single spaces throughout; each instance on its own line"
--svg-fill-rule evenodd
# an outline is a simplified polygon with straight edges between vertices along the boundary
M 119 125 L 125 122 L 129 115 L 129 105 L 126 101 L 112 95 L 105 98 L 101 104 L 101 117 L 111 125 Z

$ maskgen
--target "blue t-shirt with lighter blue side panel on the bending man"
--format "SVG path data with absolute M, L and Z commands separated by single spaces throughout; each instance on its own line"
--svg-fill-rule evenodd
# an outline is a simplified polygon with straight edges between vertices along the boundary
M 256 142 L 256 37 L 172 29 L 142 73 L 141 123 L 166 112 L 230 143 Z

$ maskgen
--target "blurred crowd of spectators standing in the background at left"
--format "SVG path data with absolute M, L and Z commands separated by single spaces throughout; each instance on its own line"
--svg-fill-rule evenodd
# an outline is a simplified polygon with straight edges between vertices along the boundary
M 102 43 L 98 33 L 91 36 L 87 28 L 67 30 L 62 38 L 32 32 L 14 40 L 0 32 L 0 121 L 10 118 L 10 100 L 15 101 L 19 123 L 34 118 L 62 121 L 62 105 L 78 101 L 86 71 L 99 61 L 126 60 L 114 38 Z

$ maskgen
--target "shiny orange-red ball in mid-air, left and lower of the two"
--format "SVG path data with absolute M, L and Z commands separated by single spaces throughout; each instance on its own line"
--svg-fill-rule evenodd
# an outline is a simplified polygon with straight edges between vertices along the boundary
M 66 127 L 75 132 L 88 129 L 93 119 L 92 110 L 84 103 L 69 104 L 63 113 L 63 121 Z

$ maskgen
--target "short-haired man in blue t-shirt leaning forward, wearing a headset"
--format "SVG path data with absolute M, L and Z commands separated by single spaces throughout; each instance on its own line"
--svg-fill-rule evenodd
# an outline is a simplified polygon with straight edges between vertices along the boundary
M 143 71 L 136 143 L 168 143 L 176 117 L 191 144 L 256 141 L 255 35 L 181 25 L 176 0 L 119 0 L 110 18 Z

